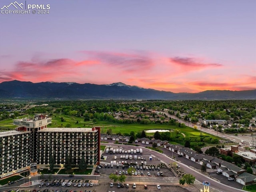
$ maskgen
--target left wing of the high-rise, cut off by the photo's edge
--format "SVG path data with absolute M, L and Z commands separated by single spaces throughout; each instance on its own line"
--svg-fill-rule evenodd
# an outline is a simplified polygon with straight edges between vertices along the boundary
M 30 131 L 0 132 L 0 178 L 30 167 Z

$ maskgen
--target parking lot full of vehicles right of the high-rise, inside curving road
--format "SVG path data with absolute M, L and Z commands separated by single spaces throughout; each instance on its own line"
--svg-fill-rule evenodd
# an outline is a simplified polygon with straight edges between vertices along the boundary
M 125 147 L 125 148 L 124 148 Z M 118 153 L 103 153 L 104 159 L 101 160 L 101 167 L 96 168 L 99 174 L 110 175 L 113 174 L 126 174 L 127 176 L 137 177 L 174 177 L 175 175 L 162 163 L 160 159 L 152 156 L 148 152 L 131 153 L 131 149 L 136 151 L 138 147 L 124 146 L 118 148 Z M 111 148 L 111 147 L 109 147 Z M 116 149 L 113 147 L 113 150 Z M 119 152 L 121 151 L 121 152 Z M 128 173 L 128 168 L 134 168 L 134 172 Z

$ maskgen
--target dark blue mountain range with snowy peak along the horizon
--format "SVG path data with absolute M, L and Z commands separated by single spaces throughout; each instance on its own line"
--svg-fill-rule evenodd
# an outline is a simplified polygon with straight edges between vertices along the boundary
M 32 83 L 13 80 L 0 83 L 0 98 L 48 100 L 246 100 L 256 99 L 256 89 L 245 91 L 207 90 L 199 93 L 173 93 L 130 86 L 121 82 L 97 85 L 90 83 L 78 84 L 74 82 Z

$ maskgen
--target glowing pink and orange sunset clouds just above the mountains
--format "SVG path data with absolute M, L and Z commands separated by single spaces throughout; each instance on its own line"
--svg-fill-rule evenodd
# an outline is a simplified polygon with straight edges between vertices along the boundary
M 227 69 L 224 64 L 204 62 L 201 58 L 160 57 L 158 54 L 147 52 L 80 51 L 79 53 L 84 55 L 84 60 L 61 58 L 17 62 L 12 70 L 1 71 L 0 80 L 1 82 L 20 80 L 80 84 L 123 82 L 172 92 L 255 89 L 256 76 L 237 78 L 237 74 L 225 72 Z M 214 78 L 214 74 L 220 69 L 224 72 Z M 211 76 L 208 75 L 208 70 L 212 71 Z

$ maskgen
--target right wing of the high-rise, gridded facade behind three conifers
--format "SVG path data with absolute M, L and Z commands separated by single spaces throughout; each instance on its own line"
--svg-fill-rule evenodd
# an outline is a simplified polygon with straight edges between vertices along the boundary
M 88 166 L 100 161 L 99 128 L 46 128 L 38 131 L 37 164 L 41 167 L 50 163 L 52 156 L 56 165 L 63 167 L 71 156 L 78 167 L 82 157 Z

